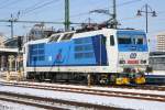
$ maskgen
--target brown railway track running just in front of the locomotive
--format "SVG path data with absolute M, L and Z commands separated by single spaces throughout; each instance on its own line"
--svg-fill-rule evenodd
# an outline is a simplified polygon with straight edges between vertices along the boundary
M 164 95 L 154 95 L 154 94 L 140 94 L 140 92 L 128 92 L 128 91 L 111 91 L 111 90 L 97 90 L 90 88 L 78 88 L 78 87 L 59 87 L 59 86 L 43 86 L 36 84 L 21 84 L 21 82 L 7 82 L 4 86 L 15 86 L 24 88 L 34 88 L 34 89 L 44 89 L 44 90 L 54 90 L 54 91 L 66 91 L 75 94 L 88 94 L 96 96 L 106 96 L 106 97 L 120 97 L 128 99 L 141 99 L 147 101 L 161 101 L 165 102 Z

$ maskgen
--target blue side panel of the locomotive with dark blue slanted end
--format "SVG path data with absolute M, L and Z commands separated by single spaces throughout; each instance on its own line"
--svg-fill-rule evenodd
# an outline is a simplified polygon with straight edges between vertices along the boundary
M 106 45 L 100 45 L 100 37 L 95 35 L 75 38 L 68 42 L 30 45 L 28 66 L 96 66 L 107 65 Z M 101 62 L 100 62 L 101 46 Z M 43 51 L 43 52 L 41 52 Z M 44 57 L 40 59 L 40 57 Z

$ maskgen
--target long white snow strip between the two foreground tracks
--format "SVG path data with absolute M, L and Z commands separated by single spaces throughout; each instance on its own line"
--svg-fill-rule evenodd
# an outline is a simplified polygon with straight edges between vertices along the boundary
M 0 91 L 19 92 L 19 94 L 26 94 L 26 95 L 47 97 L 54 99 L 89 102 L 89 103 L 105 105 L 110 107 L 120 107 L 125 109 L 164 110 L 165 108 L 165 102 L 158 102 L 158 101 L 146 101 L 146 100 L 138 100 L 138 99 L 125 99 L 125 98 L 84 95 L 84 94 L 74 94 L 74 92 L 64 92 L 64 91 L 38 90 L 32 88 L 0 86 Z

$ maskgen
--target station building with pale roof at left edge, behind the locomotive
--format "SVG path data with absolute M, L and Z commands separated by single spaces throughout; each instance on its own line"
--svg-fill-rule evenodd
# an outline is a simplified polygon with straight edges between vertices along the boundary
M 21 37 L 21 44 L 23 42 L 23 36 Z M 7 72 L 12 70 L 16 72 L 19 67 L 23 67 L 22 51 L 21 55 L 18 57 L 19 53 L 19 40 L 18 36 L 11 38 L 4 38 L 0 36 L 0 70 Z M 12 57 L 12 59 L 11 59 Z

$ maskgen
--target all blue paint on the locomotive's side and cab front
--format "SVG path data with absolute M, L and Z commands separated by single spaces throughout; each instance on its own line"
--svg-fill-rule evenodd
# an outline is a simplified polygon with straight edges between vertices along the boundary
M 118 31 L 117 36 L 119 35 L 128 35 L 131 38 L 142 35 L 146 38 L 145 33 L 141 31 Z M 31 67 L 108 65 L 106 36 L 102 34 L 59 43 L 33 44 L 29 48 L 28 66 Z M 119 44 L 118 50 L 119 52 L 147 52 L 148 48 L 147 43 L 143 43 Z

